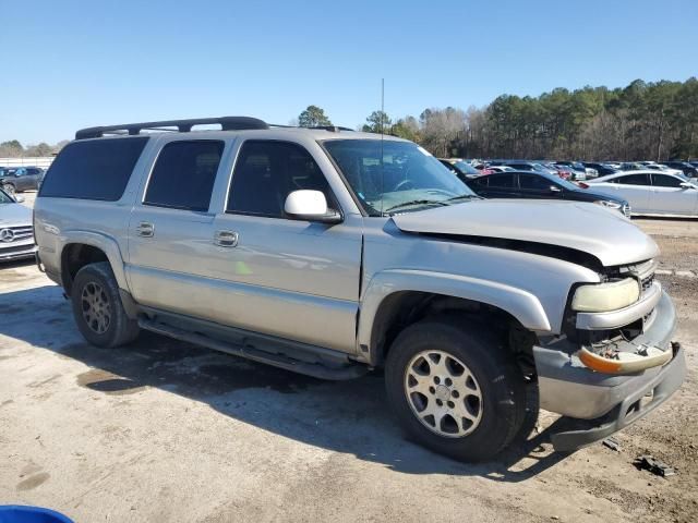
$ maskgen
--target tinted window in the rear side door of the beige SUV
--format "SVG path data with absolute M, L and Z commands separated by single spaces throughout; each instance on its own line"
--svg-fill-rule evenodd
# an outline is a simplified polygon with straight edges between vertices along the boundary
M 157 157 L 146 205 L 208 210 L 225 143 L 216 139 L 170 142 Z

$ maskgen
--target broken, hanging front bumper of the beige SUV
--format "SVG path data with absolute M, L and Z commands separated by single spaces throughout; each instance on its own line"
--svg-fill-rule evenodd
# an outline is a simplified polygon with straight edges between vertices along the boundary
M 579 348 L 567 339 L 533 348 L 540 406 L 562 414 L 573 425 L 570 430 L 552 436 L 555 450 L 576 450 L 621 430 L 650 413 L 681 387 L 686 363 L 684 351 L 678 344 L 672 344 L 676 311 L 669 295 L 660 292 L 646 331 L 631 343 L 616 344 L 627 344 L 627 350 L 638 345 L 660 350 L 669 356 L 662 366 L 630 375 L 604 374 L 585 365 L 579 358 Z

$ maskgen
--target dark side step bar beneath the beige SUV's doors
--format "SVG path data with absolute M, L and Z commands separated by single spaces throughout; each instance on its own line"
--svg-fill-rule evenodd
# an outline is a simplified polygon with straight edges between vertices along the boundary
M 190 332 L 186 330 L 178 329 L 171 325 L 163 324 L 152 319 L 141 318 L 139 319 L 139 326 L 142 329 L 149 330 L 158 335 L 168 336 L 177 340 L 186 341 L 195 345 L 206 346 L 214 351 L 225 352 L 232 354 L 233 356 L 246 357 L 258 363 L 266 363 L 274 367 L 284 368 L 293 373 L 304 374 L 318 379 L 330 380 L 345 380 L 359 378 L 369 372 L 369 367 L 365 365 L 354 364 L 347 361 L 344 365 L 329 366 L 321 363 L 302 362 L 289 357 L 285 354 L 274 354 L 270 352 L 262 351 L 250 345 L 241 345 L 230 343 L 215 338 L 210 338 L 197 332 Z

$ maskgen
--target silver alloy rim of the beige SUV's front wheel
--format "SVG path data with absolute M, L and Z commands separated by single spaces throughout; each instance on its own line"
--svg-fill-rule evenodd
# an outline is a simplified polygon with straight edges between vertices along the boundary
M 407 402 L 422 425 L 447 438 L 471 434 L 482 421 L 482 390 L 472 372 L 454 355 L 428 350 L 405 370 Z

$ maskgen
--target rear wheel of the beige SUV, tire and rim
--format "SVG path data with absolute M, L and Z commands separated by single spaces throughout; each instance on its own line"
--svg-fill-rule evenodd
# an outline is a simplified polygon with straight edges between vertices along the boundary
M 71 300 L 77 328 L 93 345 L 120 346 L 139 336 L 139 323 L 127 316 L 108 262 L 89 264 L 77 271 Z

